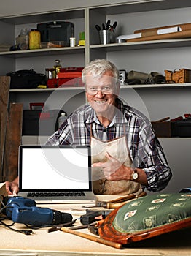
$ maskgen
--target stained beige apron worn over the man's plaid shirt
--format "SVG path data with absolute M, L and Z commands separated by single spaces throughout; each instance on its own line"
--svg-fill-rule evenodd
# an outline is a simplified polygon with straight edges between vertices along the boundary
M 118 159 L 125 166 L 132 166 L 125 135 L 109 141 L 101 141 L 92 136 L 91 131 L 92 163 L 107 162 L 106 152 Z M 93 167 L 93 192 L 96 195 L 139 195 L 142 192 L 141 184 L 135 181 L 108 181 L 104 177 L 101 167 Z

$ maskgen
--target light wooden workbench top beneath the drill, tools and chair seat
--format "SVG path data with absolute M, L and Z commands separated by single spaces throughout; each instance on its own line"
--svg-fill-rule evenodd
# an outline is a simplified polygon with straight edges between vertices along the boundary
M 76 219 L 83 213 L 81 205 L 43 205 L 63 212 L 71 212 Z M 77 221 L 77 225 L 81 225 Z M 14 228 L 24 229 L 25 225 L 15 224 Z M 155 238 L 149 238 L 139 243 L 124 246 L 123 249 L 114 249 L 104 244 L 63 233 L 58 230 L 47 233 L 47 227 L 34 230 L 34 234 L 26 236 L 16 233 L 0 225 L 0 255 L 130 255 L 130 256 L 189 256 L 191 255 L 191 229 L 179 230 Z M 80 232 L 90 233 L 88 230 Z

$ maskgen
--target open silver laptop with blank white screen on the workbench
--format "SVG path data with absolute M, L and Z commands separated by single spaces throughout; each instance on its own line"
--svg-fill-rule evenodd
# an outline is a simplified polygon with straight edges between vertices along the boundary
M 19 147 L 19 196 L 36 203 L 95 203 L 87 146 Z

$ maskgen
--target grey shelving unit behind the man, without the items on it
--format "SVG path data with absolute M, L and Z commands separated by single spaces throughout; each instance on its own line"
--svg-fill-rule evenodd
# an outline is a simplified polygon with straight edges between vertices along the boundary
M 0 52 L 0 61 L 3 64 L 0 75 L 31 68 L 44 73 L 45 68 L 52 67 L 55 59 L 61 59 L 63 67 L 84 67 L 93 59 L 103 58 L 109 59 L 118 69 L 126 69 L 127 72 L 157 71 L 163 75 L 165 69 L 191 69 L 191 38 L 100 45 L 98 32 L 95 30 L 95 24 L 101 25 L 106 20 L 111 20 L 112 23 L 117 20 L 114 37 L 133 34 L 136 29 L 190 23 L 190 0 L 127 0 L 117 4 L 112 0 L 111 4 L 110 0 L 106 4 L 104 2 L 106 1 L 98 6 L 95 2 L 95 6 L 91 7 L 86 2 L 83 7 L 75 9 L 71 9 L 66 2 L 56 7 L 52 4 L 52 8 L 46 7 L 44 12 L 39 12 L 38 7 L 33 6 L 32 10 L 26 10 L 23 15 L 15 13 L 1 16 L 1 42 L 14 44 L 20 29 L 32 29 L 37 23 L 67 20 L 74 23 L 77 41 L 79 31 L 85 31 L 86 44 L 85 47 L 75 48 Z M 190 87 L 191 83 L 121 86 L 120 97 L 145 113 L 151 121 L 155 121 L 166 116 L 176 118 L 190 113 Z M 24 109 L 29 108 L 29 102 L 46 102 L 47 108 L 63 108 L 68 114 L 86 101 L 82 87 L 11 89 L 10 99 L 12 102 L 23 102 Z M 44 143 L 46 139 L 23 136 L 23 143 Z M 190 138 L 160 138 L 160 142 L 176 177 L 171 180 L 169 189 L 178 189 L 177 192 L 182 186 L 190 187 Z M 180 171 L 182 179 L 179 177 Z

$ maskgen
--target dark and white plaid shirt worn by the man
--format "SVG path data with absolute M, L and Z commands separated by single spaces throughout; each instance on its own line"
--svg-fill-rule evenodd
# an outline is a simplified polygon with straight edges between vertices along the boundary
M 147 175 L 147 190 L 156 192 L 167 186 L 172 176 L 171 169 L 151 123 L 146 116 L 124 105 L 120 99 L 117 99 L 117 113 L 109 127 L 100 124 L 93 108 L 85 105 L 72 113 L 46 144 L 90 146 L 91 132 L 95 138 L 103 141 L 125 135 L 133 167 L 144 169 Z

